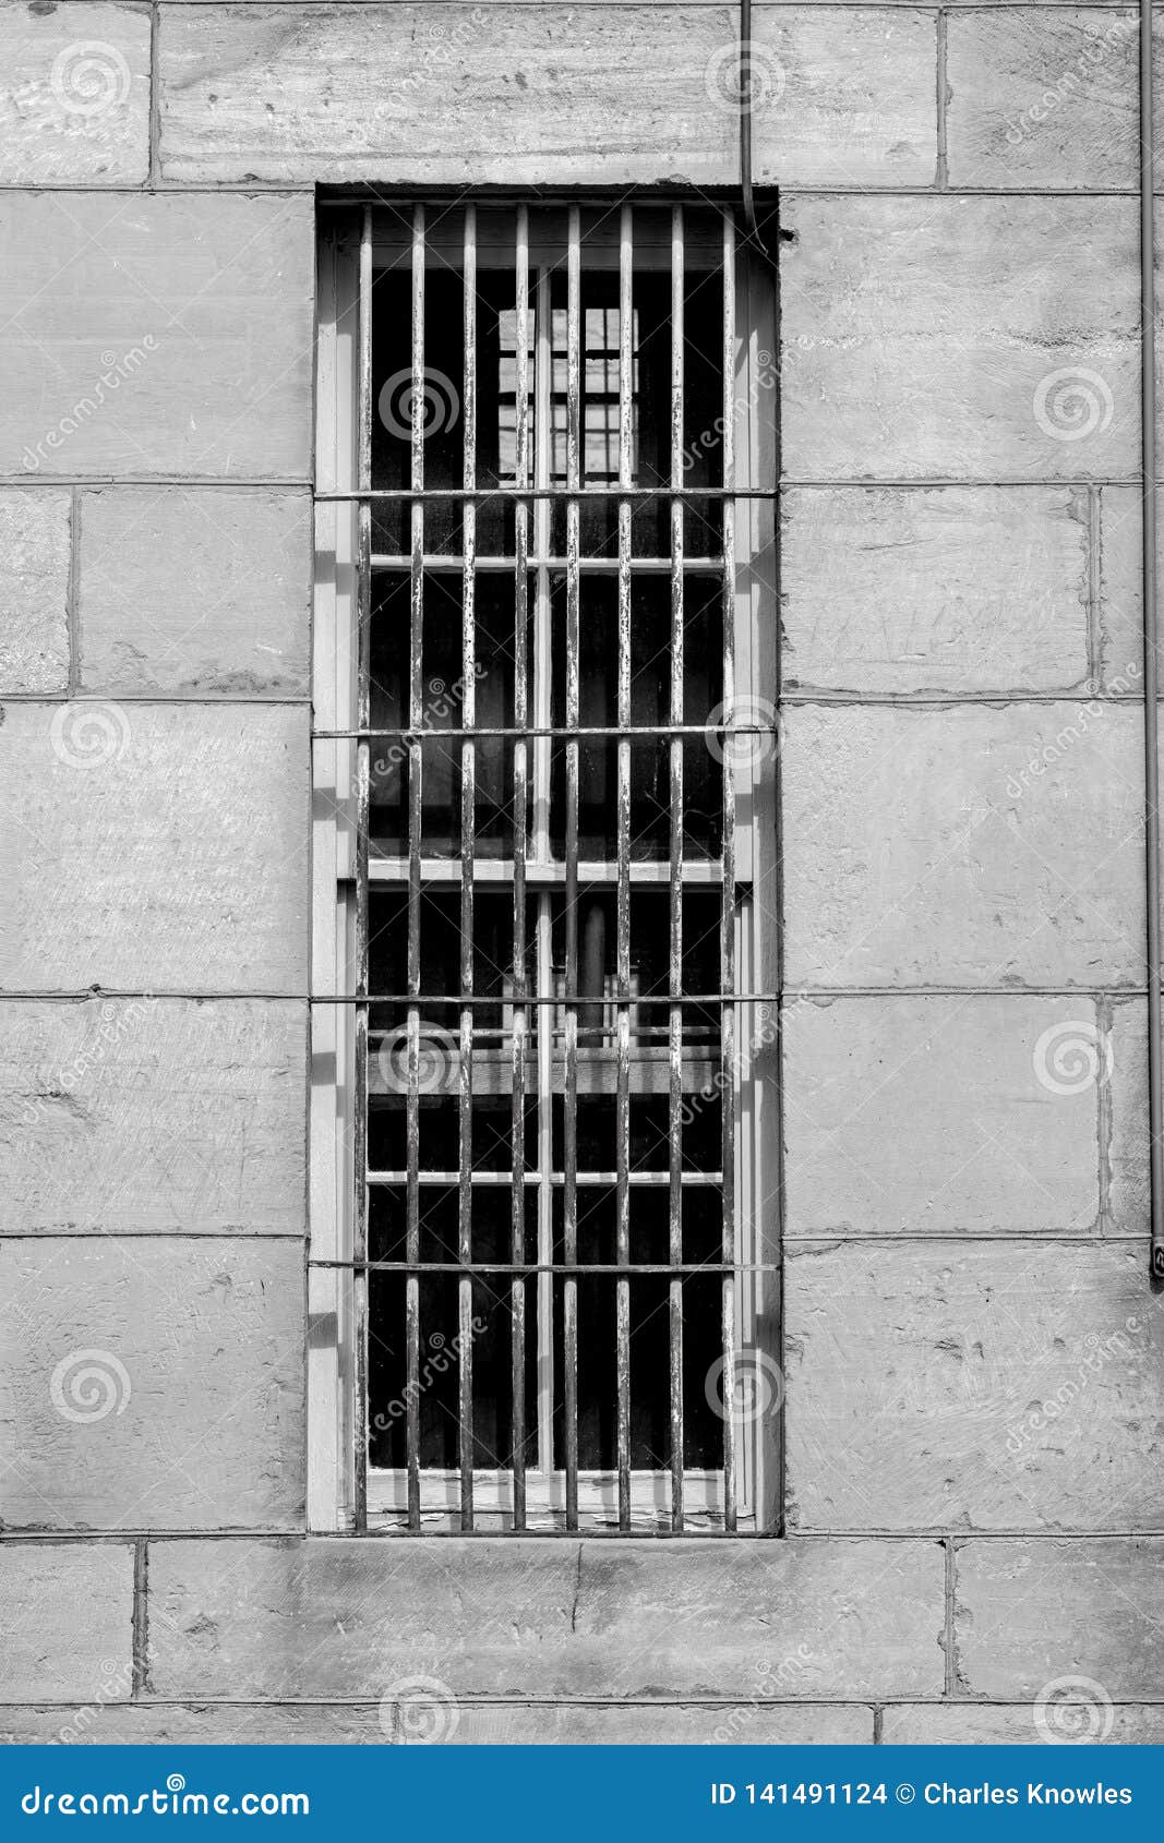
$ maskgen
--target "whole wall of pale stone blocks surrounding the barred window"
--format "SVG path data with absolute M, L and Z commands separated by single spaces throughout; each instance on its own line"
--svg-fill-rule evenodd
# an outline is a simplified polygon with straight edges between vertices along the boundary
M 754 13 L 786 1537 L 304 1535 L 314 188 L 732 184 L 734 31 L 0 11 L 0 1732 L 1164 1740 L 1118 4 Z

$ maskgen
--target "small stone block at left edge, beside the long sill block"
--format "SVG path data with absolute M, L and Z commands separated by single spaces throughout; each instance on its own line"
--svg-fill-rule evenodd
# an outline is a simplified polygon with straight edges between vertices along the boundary
M 129 1696 L 133 1548 L 0 1543 L 0 1646 L 9 1701 Z

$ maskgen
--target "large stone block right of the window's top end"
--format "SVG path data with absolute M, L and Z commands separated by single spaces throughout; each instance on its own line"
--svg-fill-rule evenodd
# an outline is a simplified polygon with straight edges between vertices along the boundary
M 790 479 L 1134 475 L 1125 199 L 801 197 L 784 219 Z

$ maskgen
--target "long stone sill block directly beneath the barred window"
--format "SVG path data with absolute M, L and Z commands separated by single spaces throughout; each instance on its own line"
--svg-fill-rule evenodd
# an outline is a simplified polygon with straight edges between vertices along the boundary
M 159 1543 L 159 1696 L 937 1694 L 935 1543 Z M 730 1616 L 727 1616 L 730 1609 Z M 231 1688 L 227 1688 L 231 1685 Z M 780 1688 L 773 1688 L 780 1685 Z M 769 1686 L 769 1690 L 766 1690 Z

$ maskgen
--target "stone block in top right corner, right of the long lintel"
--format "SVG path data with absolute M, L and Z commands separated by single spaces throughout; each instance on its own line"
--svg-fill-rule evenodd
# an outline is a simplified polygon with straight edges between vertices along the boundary
M 952 11 L 952 186 L 1138 184 L 1138 15 L 1094 6 Z

